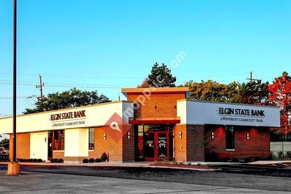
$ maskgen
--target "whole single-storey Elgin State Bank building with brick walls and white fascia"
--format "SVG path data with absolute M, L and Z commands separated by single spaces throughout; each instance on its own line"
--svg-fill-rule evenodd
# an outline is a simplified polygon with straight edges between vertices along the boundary
M 190 100 L 187 87 L 122 93 L 127 100 L 17 116 L 16 158 L 80 163 L 105 152 L 109 162 L 264 159 L 270 128 L 280 126 L 278 107 Z M 12 132 L 12 117 L 0 118 L 10 153 Z

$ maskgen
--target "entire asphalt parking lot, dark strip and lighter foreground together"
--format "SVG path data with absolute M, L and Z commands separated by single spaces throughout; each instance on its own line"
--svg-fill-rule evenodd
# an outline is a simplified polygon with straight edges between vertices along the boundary
M 27 191 L 32 190 L 30 185 L 33 184 L 41 185 L 41 188 L 34 188 L 36 193 L 42 193 L 43 190 L 47 191 L 49 189 L 49 185 L 53 186 L 54 184 L 60 186 L 60 190 L 53 192 L 71 193 L 69 188 L 67 188 L 68 185 L 74 184 L 73 188 L 75 186 L 77 187 L 77 185 L 80 185 L 81 188 L 88 186 L 86 184 L 82 185 L 83 182 L 81 182 L 81 177 L 84 179 L 92 179 L 94 184 L 88 186 L 87 189 L 84 189 L 86 191 L 88 190 L 89 193 L 95 193 L 95 191 L 102 193 L 102 191 L 96 190 L 99 188 L 96 188 L 97 185 L 107 185 L 109 188 L 112 188 L 112 190 L 104 190 L 107 191 L 105 193 L 122 193 L 123 190 L 115 190 L 119 186 L 115 185 L 114 181 L 126 182 L 126 184 L 128 184 L 128 189 L 130 189 L 124 191 L 127 191 L 128 193 L 195 193 L 198 192 L 198 190 L 199 193 L 274 193 L 275 191 L 279 191 L 279 193 L 291 192 L 290 170 L 284 170 L 283 168 L 278 170 L 280 168 L 274 168 L 273 170 L 269 170 L 268 173 L 256 171 L 258 169 L 251 169 L 246 171 L 246 167 L 244 166 L 245 164 L 242 165 L 242 171 L 239 171 L 239 169 L 234 171 L 234 169 L 229 169 L 231 166 L 224 166 L 222 172 L 201 172 L 193 170 L 149 169 L 140 167 L 114 166 L 100 167 L 23 165 L 21 167 L 23 175 L 16 176 L 18 178 L 4 176 L 6 165 L 0 165 L 0 179 L 5 179 L 5 181 L 0 182 L 0 193 L 4 192 L 3 188 L 6 189 L 6 193 L 17 193 L 18 191 L 20 192 L 21 189 L 24 189 L 27 186 Z M 239 167 L 237 166 L 236 168 Z M 257 172 L 257 174 L 255 174 L 255 172 Z M 281 172 L 281 174 L 278 172 Z M 35 176 L 35 178 L 33 178 L 33 176 Z M 111 183 L 111 181 L 106 181 L 110 180 L 108 178 L 114 180 L 114 184 L 108 184 Z M 48 183 L 46 181 L 48 181 Z M 5 182 L 8 182 L 10 186 L 8 187 Z M 47 185 L 47 187 L 43 187 L 43 185 Z M 172 187 L 173 185 L 177 186 Z M 184 186 L 181 188 L 179 185 Z M 52 189 L 53 188 L 54 187 L 52 187 Z M 72 192 L 79 191 L 77 193 L 81 193 L 81 188 L 74 188 Z M 161 188 L 163 188 L 163 190 L 160 190 Z M 176 188 L 180 188 L 181 190 L 175 190 Z M 39 189 L 41 191 L 38 191 Z M 61 192 L 63 191 L 62 189 L 64 189 L 64 192 Z M 52 191 L 49 192 L 52 193 Z

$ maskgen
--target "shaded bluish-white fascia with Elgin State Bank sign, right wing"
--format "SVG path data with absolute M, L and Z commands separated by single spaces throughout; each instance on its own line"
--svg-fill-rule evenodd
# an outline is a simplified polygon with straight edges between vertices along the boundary
M 278 107 L 186 100 L 178 101 L 177 109 L 181 123 L 186 120 L 185 124 L 280 127 Z

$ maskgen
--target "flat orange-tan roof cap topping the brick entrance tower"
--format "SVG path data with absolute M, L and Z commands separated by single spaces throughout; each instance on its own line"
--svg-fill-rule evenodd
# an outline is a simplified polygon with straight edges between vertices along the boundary
M 160 88 L 122 88 L 121 92 L 124 96 L 127 97 L 127 94 L 148 94 L 149 92 L 152 94 L 177 94 L 177 93 L 185 93 L 186 97 L 190 97 L 189 88 L 188 87 L 160 87 Z

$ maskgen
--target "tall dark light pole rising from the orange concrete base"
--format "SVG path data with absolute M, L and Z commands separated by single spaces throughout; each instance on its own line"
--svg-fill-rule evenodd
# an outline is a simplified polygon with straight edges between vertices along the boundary
M 13 162 L 16 162 L 16 8 L 14 0 L 13 15 Z

